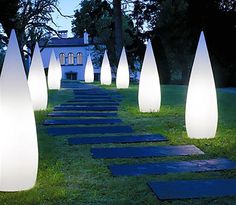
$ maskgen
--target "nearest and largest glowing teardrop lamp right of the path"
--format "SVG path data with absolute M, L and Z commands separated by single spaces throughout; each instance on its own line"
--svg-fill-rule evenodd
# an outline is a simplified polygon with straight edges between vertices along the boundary
M 216 134 L 218 109 L 211 62 L 201 32 L 190 76 L 185 123 L 190 138 L 213 138 Z

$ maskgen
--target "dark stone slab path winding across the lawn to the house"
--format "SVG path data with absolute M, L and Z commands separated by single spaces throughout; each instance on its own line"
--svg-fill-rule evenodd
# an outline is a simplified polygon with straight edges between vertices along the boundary
M 122 96 L 116 91 L 78 82 L 63 82 L 62 85 L 64 88 L 73 89 L 74 99 L 68 99 L 67 103 L 56 106 L 54 111 L 48 115 L 50 119 L 45 120 L 44 125 L 48 127 L 50 135 L 69 136 L 68 143 L 70 145 L 167 141 L 167 138 L 160 134 L 134 134 L 132 127 L 123 125 L 122 120 L 117 118 L 117 110 Z M 116 135 L 101 137 L 101 134 L 110 133 Z M 93 134 L 93 137 L 81 137 L 81 134 Z M 204 155 L 204 152 L 194 145 L 145 145 L 91 148 L 91 155 L 94 158 L 137 158 Z M 236 168 L 236 163 L 228 159 L 208 159 L 145 164 L 112 164 L 108 168 L 113 176 L 139 176 L 231 170 Z M 231 191 L 232 186 L 236 185 L 236 181 L 233 179 L 154 181 L 147 182 L 147 184 L 161 200 L 236 195 L 236 191 Z M 204 189 L 204 191 L 199 191 L 195 188 L 196 186 Z M 224 192 L 219 191 L 221 187 L 224 187 Z M 235 187 L 233 189 L 235 190 Z

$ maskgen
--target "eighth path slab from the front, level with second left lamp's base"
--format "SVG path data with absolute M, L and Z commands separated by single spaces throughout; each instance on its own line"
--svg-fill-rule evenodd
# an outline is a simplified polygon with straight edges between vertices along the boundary
M 54 111 L 117 111 L 118 108 L 114 106 L 87 106 L 87 107 L 76 107 L 76 106 L 55 106 Z

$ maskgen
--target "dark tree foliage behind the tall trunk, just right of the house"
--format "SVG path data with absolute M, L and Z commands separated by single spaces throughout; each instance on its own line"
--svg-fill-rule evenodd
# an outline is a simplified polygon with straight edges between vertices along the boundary
M 114 67 L 117 66 L 117 59 L 119 59 L 117 55 L 119 52 L 116 52 L 116 38 L 118 37 L 115 31 L 113 7 L 109 2 L 99 0 L 83 0 L 80 5 L 81 9 L 75 11 L 75 19 L 72 21 L 72 31 L 75 35 L 82 36 L 84 29 L 86 29 L 92 39 L 98 37 L 99 41 L 106 45 L 112 65 Z M 122 34 L 119 35 L 123 36 L 123 40 L 121 47 L 119 45 L 119 49 L 123 45 L 126 46 L 128 48 L 128 58 L 132 61 L 134 59 L 132 53 L 136 52 L 139 55 L 140 44 L 143 42 L 137 44 L 139 40 L 134 33 L 133 21 L 128 15 L 122 13 L 122 22 L 122 29 L 120 30 Z

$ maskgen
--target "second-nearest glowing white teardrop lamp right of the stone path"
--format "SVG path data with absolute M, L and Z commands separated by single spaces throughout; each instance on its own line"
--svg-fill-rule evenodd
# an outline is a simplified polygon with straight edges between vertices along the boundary
M 138 103 L 140 112 L 158 112 L 161 106 L 160 80 L 150 40 L 140 73 Z

